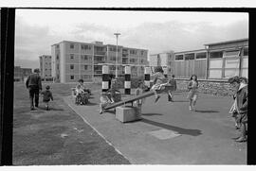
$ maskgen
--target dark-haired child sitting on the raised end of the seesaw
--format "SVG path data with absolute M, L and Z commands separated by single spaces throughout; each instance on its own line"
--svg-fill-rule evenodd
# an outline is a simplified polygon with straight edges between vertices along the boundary
M 156 66 L 155 67 L 155 76 L 154 76 L 154 81 L 153 81 L 153 86 L 151 90 L 153 90 L 155 94 L 155 103 L 158 101 L 160 98 L 160 95 L 157 94 L 157 91 L 162 90 L 162 88 L 168 84 L 167 78 L 163 74 L 163 69 L 161 66 Z

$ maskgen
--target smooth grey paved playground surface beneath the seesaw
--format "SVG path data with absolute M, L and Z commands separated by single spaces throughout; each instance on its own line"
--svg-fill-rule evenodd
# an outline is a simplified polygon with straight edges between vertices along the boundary
M 239 133 L 228 113 L 232 98 L 199 94 L 189 111 L 186 95 L 148 97 L 142 119 L 124 124 L 114 111 L 99 114 L 99 91 L 90 106 L 76 106 L 71 96 L 64 102 L 132 164 L 247 164 L 247 143 L 232 139 Z

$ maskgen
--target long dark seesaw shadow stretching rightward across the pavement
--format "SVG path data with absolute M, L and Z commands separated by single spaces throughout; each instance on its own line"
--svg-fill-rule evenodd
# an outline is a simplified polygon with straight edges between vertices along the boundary
M 148 119 L 145 119 L 145 118 L 142 118 L 140 121 L 144 122 L 144 123 L 147 123 L 147 124 L 154 125 L 156 127 L 174 130 L 174 131 L 178 132 L 179 134 L 187 134 L 187 135 L 192 135 L 192 136 L 198 136 L 198 135 L 202 134 L 201 130 L 199 130 L 199 129 L 178 128 L 178 127 L 175 127 L 175 126 L 170 126 L 170 125 L 167 125 L 167 124 L 155 122 L 155 121 L 148 120 Z

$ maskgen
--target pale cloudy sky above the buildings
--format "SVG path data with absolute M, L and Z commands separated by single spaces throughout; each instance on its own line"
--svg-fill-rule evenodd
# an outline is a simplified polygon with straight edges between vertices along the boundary
M 245 12 L 16 9 L 15 65 L 39 67 L 39 56 L 62 41 L 116 44 L 164 51 L 248 38 Z

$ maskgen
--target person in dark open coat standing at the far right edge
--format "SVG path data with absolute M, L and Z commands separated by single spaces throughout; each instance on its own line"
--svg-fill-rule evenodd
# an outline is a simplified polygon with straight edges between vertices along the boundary
M 229 83 L 239 86 L 235 93 L 234 110 L 238 113 L 236 121 L 240 125 L 241 135 L 235 141 L 239 143 L 247 142 L 247 84 L 237 77 L 230 78 Z

